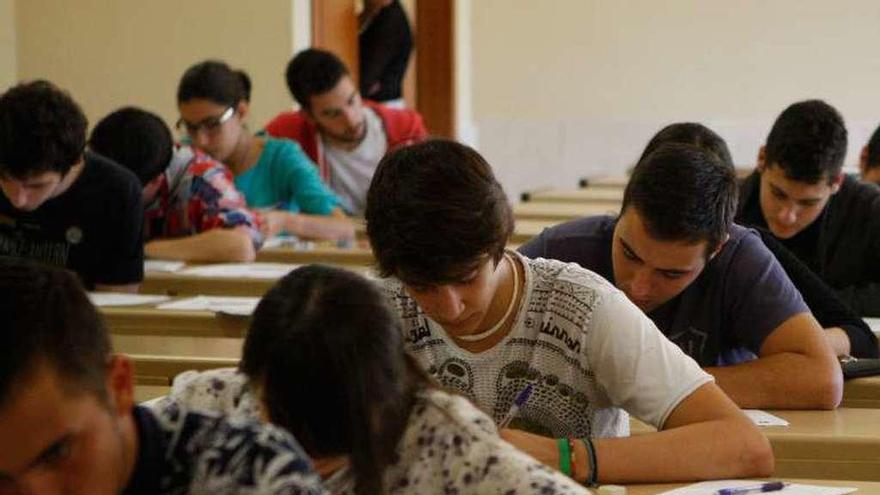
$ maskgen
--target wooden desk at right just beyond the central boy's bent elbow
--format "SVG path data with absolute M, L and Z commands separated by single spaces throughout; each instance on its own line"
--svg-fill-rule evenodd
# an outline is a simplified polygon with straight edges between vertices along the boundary
M 775 476 L 880 481 L 880 409 L 771 411 L 790 426 L 761 428 L 776 455 Z M 633 434 L 653 429 L 631 422 Z

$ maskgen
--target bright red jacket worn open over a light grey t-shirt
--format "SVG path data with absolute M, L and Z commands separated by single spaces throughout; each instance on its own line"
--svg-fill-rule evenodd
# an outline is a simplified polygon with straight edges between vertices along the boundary
M 385 135 L 388 137 L 388 151 L 400 146 L 422 141 L 428 137 L 422 116 L 415 110 L 388 108 L 379 103 L 364 100 L 364 105 L 376 112 Z M 324 159 L 323 145 L 318 129 L 309 122 L 302 110 L 297 112 L 281 112 L 267 125 L 266 132 L 270 136 L 292 139 L 302 146 L 313 162 L 318 164 L 321 178 L 330 178 L 330 168 Z

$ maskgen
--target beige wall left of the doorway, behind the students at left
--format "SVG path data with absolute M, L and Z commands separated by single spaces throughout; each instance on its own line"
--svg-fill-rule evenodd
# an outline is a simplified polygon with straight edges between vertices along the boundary
M 180 76 L 195 62 L 220 58 L 251 76 L 250 122 L 258 128 L 291 105 L 284 84 L 291 3 L 19 0 L 18 76 L 69 90 L 92 124 L 129 104 L 172 124 Z

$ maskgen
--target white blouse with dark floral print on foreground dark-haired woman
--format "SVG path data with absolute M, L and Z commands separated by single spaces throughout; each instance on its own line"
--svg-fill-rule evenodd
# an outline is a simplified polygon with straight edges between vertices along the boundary
M 171 397 L 196 410 L 259 417 L 246 377 L 234 369 L 183 373 L 174 380 Z M 589 493 L 502 440 L 495 423 L 467 399 L 438 389 L 418 394 L 396 457 L 383 475 L 385 493 Z M 354 493 L 345 468 L 325 486 L 331 493 Z

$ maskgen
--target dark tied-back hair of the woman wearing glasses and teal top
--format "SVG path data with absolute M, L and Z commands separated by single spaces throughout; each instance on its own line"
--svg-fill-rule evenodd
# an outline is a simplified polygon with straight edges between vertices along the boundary
M 177 103 L 201 98 L 232 107 L 251 101 L 251 79 L 242 70 L 232 70 L 226 62 L 205 60 L 183 73 L 177 85 Z

